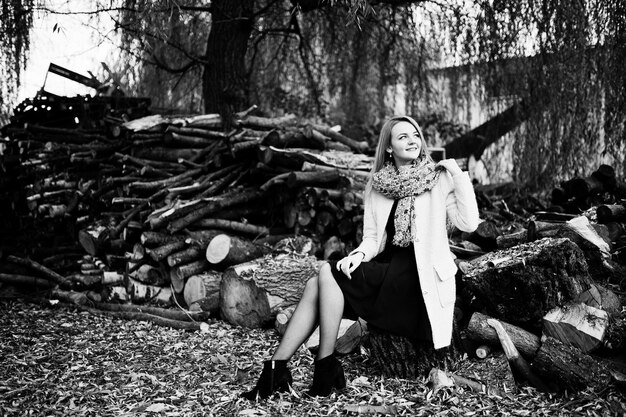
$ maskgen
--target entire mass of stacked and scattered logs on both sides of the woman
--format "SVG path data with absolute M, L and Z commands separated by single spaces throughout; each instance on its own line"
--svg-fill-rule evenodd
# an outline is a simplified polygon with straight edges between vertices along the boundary
M 19 233 L 4 234 L 1 285 L 178 328 L 219 316 L 284 331 L 322 260 L 360 242 L 372 158 L 329 126 L 251 113 L 230 130 L 219 115 L 3 129 L 1 226 Z M 611 291 L 626 284 L 626 187 L 609 168 L 562 184 L 552 206 L 510 184 L 476 187 L 484 221 L 450 230 L 449 350 L 360 321 L 343 323 L 338 352 L 367 341 L 383 372 L 415 377 L 502 349 L 516 380 L 541 390 L 609 383 L 602 355 L 626 346 Z

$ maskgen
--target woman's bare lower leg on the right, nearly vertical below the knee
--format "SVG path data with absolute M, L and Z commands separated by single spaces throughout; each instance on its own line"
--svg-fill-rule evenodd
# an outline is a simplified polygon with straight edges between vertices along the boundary
M 322 359 L 335 351 L 339 324 L 343 316 L 343 293 L 333 277 L 329 264 L 324 264 L 319 275 L 320 347 L 317 358 Z

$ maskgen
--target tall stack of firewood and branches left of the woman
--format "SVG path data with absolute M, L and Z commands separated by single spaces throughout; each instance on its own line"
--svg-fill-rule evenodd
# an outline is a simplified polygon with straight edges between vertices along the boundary
M 65 274 L 62 287 L 96 302 L 213 312 L 211 277 L 271 256 L 281 239 L 315 236 L 311 255 L 344 253 L 360 239 L 367 144 L 294 115 L 249 113 L 228 128 L 219 115 L 148 116 L 120 123 L 116 137 L 5 129 L 20 160 L 21 222 L 40 231 L 7 253 Z

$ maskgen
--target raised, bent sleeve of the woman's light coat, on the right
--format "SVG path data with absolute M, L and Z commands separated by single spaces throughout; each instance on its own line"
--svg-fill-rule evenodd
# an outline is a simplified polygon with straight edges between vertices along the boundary
M 447 171 L 442 175 L 447 182 L 446 212 L 452 223 L 464 232 L 473 232 L 478 227 L 478 204 L 474 187 L 467 172 L 450 175 Z

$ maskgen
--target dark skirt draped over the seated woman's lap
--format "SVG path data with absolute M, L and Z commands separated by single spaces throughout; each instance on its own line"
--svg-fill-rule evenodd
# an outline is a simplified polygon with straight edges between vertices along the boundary
M 412 340 L 432 340 L 413 245 L 403 248 L 388 242 L 387 249 L 352 272 L 352 279 L 337 270 L 336 261 L 330 266 L 344 295 L 344 317 L 360 317 Z

